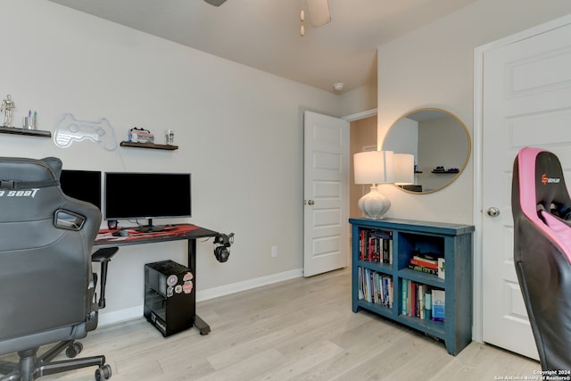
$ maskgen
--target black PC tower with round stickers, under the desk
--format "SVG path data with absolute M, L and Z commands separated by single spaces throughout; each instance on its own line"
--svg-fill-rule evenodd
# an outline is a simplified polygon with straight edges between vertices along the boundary
M 193 327 L 194 313 L 191 270 L 175 261 L 145 264 L 147 321 L 166 337 Z

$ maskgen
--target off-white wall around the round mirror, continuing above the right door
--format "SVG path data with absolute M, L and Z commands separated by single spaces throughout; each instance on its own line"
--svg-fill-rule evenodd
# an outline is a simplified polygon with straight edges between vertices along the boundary
M 421 107 L 447 109 L 473 133 L 473 51 L 571 12 L 568 0 L 479 0 L 459 12 L 378 46 L 378 141 L 401 115 Z M 473 155 L 472 155 L 473 157 Z M 387 215 L 473 223 L 473 163 L 451 185 L 429 195 L 385 186 Z

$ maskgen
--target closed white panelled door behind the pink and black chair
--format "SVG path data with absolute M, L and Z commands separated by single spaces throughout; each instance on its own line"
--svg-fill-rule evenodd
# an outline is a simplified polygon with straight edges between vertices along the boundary
M 537 349 L 513 261 L 511 172 L 524 146 L 548 149 L 571 168 L 568 22 L 484 52 L 483 338 L 534 359 Z M 490 208 L 500 214 L 491 217 Z

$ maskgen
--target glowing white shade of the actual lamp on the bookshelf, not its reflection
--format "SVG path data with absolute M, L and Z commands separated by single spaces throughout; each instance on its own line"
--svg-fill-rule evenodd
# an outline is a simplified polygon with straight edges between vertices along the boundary
M 355 184 L 385 184 L 394 180 L 393 151 L 368 151 L 353 155 Z

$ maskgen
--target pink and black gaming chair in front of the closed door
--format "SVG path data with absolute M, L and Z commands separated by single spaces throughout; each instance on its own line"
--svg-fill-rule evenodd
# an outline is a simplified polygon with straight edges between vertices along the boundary
M 571 369 L 571 199 L 557 156 L 523 148 L 511 200 L 517 279 L 542 369 Z

